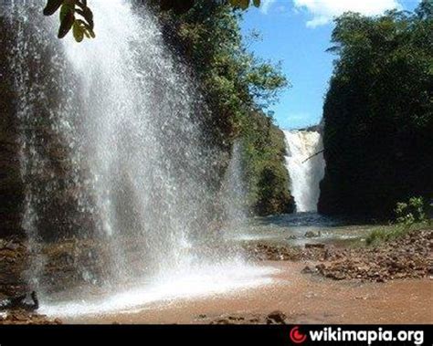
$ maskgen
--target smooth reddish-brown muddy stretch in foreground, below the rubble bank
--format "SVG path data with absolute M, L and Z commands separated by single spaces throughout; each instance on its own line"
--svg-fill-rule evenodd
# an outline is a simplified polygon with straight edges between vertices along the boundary
M 301 262 L 263 265 L 280 269 L 270 286 L 64 322 L 266 323 L 265 317 L 277 310 L 285 315 L 286 323 L 433 323 L 432 279 L 336 281 L 302 274 L 305 263 Z

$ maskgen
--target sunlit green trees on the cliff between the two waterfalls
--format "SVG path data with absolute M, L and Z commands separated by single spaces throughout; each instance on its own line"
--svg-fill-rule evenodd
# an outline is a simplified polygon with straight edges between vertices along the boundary
M 248 53 L 239 27 L 242 12 L 212 1 L 196 1 L 182 16 L 155 11 L 167 41 L 200 81 L 212 110 L 209 140 L 229 152 L 234 139 L 242 139 L 248 204 L 259 215 L 291 212 L 284 135 L 265 113 L 288 81 L 278 66 Z

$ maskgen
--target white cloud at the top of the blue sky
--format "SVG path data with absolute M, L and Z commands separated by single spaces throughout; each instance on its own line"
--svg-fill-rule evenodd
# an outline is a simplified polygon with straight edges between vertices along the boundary
M 333 21 L 334 16 L 344 12 L 359 12 L 365 16 L 380 15 L 385 10 L 402 6 L 398 0 L 293 0 L 295 9 L 305 9 L 312 14 L 308 27 L 316 27 Z

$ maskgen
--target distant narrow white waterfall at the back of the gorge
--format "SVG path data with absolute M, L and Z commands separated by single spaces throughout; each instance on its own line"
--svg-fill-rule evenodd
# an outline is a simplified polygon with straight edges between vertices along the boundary
M 284 131 L 287 142 L 286 166 L 290 175 L 290 192 L 296 212 L 316 212 L 324 174 L 322 135 L 319 131 Z M 307 161 L 306 161 L 307 160 Z

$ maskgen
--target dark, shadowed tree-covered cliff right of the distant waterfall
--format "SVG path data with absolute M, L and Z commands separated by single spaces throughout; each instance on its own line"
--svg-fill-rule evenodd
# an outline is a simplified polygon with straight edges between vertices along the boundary
M 433 196 L 432 8 L 336 19 L 322 213 L 388 217 L 397 201 Z

